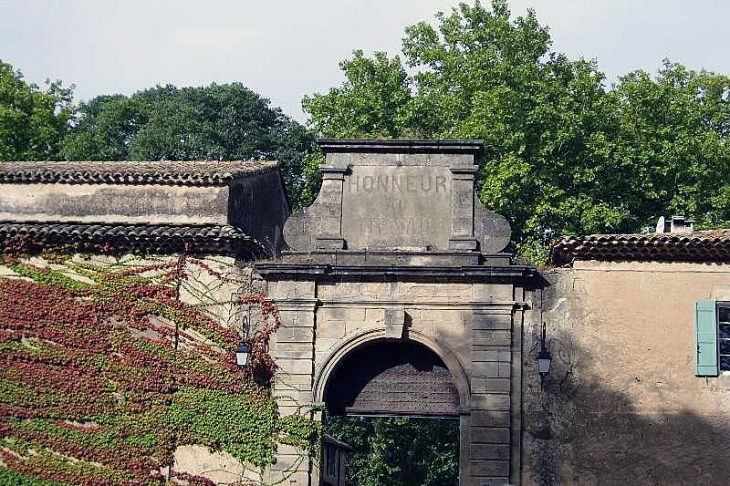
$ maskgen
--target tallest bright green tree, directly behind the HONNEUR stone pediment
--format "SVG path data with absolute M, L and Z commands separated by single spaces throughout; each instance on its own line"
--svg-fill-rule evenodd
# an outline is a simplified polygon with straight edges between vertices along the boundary
M 437 20 L 406 28 L 405 65 L 356 51 L 342 86 L 304 98 L 310 125 L 323 136 L 483 139 L 481 200 L 510 218 L 523 251 L 548 230 L 623 229 L 615 184 L 595 183 L 616 128 L 596 64 L 552 52 L 535 13 L 512 20 L 506 0 Z

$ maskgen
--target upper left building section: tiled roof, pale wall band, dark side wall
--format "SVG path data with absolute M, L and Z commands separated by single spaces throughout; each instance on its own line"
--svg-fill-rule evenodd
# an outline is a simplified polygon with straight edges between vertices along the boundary
M 0 163 L 0 221 L 233 226 L 274 255 L 289 214 L 276 162 Z

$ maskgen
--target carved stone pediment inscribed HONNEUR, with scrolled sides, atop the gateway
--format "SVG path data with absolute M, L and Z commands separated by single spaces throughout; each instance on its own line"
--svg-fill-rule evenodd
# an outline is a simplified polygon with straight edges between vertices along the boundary
M 497 253 L 510 226 L 474 194 L 481 142 L 323 140 L 317 200 L 284 227 L 296 251 Z

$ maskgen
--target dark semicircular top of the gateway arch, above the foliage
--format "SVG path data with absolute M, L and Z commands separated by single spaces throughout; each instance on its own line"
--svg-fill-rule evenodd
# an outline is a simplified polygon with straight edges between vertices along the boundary
M 456 417 L 460 404 L 449 368 L 415 341 L 357 347 L 332 371 L 323 398 L 330 415 Z

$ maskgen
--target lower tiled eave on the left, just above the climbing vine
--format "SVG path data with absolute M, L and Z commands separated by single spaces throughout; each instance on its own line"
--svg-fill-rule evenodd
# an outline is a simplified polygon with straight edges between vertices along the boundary
M 82 223 L 73 221 L 0 221 L 0 241 L 25 236 L 47 246 L 109 245 L 118 251 L 212 253 L 248 258 L 266 255 L 264 247 L 239 228 L 218 224 Z

